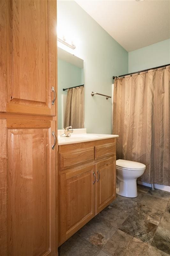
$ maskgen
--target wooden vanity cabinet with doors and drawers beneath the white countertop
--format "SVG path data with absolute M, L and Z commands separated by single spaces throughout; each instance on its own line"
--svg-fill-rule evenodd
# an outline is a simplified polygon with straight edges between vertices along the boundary
M 116 138 L 59 145 L 59 245 L 115 199 Z

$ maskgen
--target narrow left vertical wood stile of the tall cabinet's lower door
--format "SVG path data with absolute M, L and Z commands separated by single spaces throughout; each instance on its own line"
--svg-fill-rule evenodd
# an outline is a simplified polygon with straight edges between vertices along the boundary
M 7 136 L 6 120 L 0 120 L 0 256 L 7 255 Z

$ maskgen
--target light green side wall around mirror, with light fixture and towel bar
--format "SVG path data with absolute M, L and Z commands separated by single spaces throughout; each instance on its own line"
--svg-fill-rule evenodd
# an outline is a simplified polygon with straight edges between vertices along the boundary
M 128 52 L 75 1 L 57 1 L 57 31 L 67 33 L 76 49 L 60 47 L 85 61 L 85 128 L 88 133 L 112 132 L 112 99 L 91 92 L 112 94 L 113 75 L 128 72 Z M 58 33 L 59 35 L 59 33 Z

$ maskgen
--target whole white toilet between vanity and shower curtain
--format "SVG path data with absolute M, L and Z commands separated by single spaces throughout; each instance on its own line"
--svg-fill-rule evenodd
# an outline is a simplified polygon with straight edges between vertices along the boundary
M 126 197 L 137 197 L 137 178 L 146 169 L 143 163 L 128 160 L 116 160 L 116 194 Z

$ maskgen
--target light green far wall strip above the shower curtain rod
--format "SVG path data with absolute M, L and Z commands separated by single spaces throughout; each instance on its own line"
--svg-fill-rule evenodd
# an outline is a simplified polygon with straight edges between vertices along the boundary
M 129 73 L 170 63 L 170 39 L 129 52 Z

